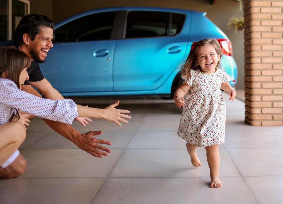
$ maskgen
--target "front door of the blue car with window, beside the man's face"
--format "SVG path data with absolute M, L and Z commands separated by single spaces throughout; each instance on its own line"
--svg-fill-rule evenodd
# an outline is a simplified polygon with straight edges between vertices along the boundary
M 86 15 L 55 29 L 53 48 L 40 67 L 63 95 L 113 91 L 116 40 L 111 40 L 111 31 L 115 16 L 115 11 Z

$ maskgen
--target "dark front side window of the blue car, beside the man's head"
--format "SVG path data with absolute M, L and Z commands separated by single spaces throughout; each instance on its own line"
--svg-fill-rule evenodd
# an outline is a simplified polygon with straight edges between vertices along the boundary
M 110 39 L 115 15 L 115 12 L 103 12 L 71 21 L 54 31 L 54 42 Z

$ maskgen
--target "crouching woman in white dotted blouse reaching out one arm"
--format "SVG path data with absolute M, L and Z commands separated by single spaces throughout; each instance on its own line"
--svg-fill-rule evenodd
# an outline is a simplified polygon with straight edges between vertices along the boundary
M 18 151 L 11 156 L 24 141 L 26 134 L 24 125 L 28 125 L 29 120 L 26 119 L 28 115 L 22 113 L 69 124 L 78 116 L 104 118 L 118 125 L 121 125 L 119 121 L 129 123 L 124 118 L 131 117 L 123 113 L 130 111 L 115 108 L 119 105 L 119 101 L 105 109 L 97 109 L 76 105 L 70 99 L 43 99 L 21 91 L 21 85 L 29 79 L 27 74 L 29 66 L 30 60 L 24 52 L 11 46 L 0 48 L 0 165 L 3 165 L 9 156 L 17 155 Z M 13 134 L 11 130 L 19 133 Z

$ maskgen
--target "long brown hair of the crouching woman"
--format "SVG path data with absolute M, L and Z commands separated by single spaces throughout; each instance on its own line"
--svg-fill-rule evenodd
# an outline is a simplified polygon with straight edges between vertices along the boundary
M 20 88 L 19 77 L 24 68 L 30 67 L 29 57 L 14 46 L 4 46 L 0 48 L 0 77 L 6 73 L 6 78 L 13 81 Z M 17 117 L 19 120 L 19 112 L 16 109 L 16 114 L 13 113 L 10 121 Z

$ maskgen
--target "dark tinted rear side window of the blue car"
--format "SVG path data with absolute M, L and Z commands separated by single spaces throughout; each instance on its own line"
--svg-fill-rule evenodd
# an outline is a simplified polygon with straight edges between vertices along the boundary
M 174 36 L 180 33 L 184 21 L 184 14 L 130 11 L 127 18 L 126 38 Z

